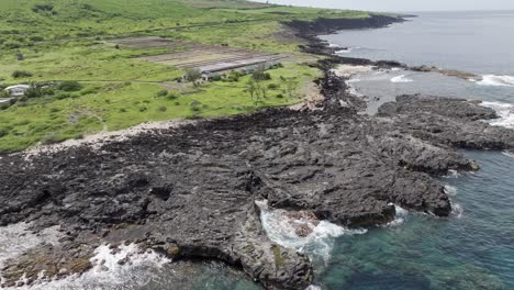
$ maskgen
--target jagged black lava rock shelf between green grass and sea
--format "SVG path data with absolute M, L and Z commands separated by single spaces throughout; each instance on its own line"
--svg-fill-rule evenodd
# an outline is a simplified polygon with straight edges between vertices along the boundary
M 331 70 L 339 60 L 319 64 L 321 110 L 268 109 L 0 156 L 0 225 L 62 233 L 57 245 L 7 260 L 3 286 L 81 274 L 97 247 L 134 243 L 172 259 L 222 260 L 268 289 L 305 289 L 310 259 L 267 237 L 256 203 L 350 228 L 391 222 L 394 205 L 448 216 L 437 177 L 479 169 L 457 149 L 514 148 L 514 131 L 482 122 L 493 110 L 462 99 L 400 96 L 359 114 L 366 103 Z

